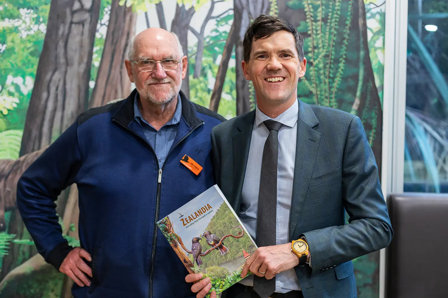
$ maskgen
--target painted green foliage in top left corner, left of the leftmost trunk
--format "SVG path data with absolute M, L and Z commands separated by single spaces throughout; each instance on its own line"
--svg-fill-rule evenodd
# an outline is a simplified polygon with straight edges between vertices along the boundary
M 18 158 L 49 4 L 16 1 L 0 10 L 0 159 Z

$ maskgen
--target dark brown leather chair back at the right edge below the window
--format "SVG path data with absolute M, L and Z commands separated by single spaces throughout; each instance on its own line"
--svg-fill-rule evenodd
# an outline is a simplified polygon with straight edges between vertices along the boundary
M 392 194 L 388 210 L 387 298 L 447 298 L 448 194 Z

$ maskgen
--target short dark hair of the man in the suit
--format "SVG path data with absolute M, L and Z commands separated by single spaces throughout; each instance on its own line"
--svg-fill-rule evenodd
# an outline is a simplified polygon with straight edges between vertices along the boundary
M 252 42 L 260 38 L 268 38 L 277 31 L 283 30 L 293 34 L 296 41 L 297 54 L 299 55 L 299 59 L 303 60 L 305 57 L 305 54 L 303 53 L 303 37 L 297 29 L 294 28 L 289 21 L 281 19 L 280 17 L 261 14 L 252 22 L 252 24 L 249 25 L 249 27 L 247 27 L 246 33 L 244 34 L 244 61 L 249 61 Z

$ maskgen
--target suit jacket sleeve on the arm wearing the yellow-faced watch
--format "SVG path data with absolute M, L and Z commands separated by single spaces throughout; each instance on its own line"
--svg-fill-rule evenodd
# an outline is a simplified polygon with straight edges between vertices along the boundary
M 375 157 L 358 117 L 349 125 L 342 167 L 341 196 L 349 223 L 301 235 L 313 255 L 312 274 L 385 248 L 392 240 Z

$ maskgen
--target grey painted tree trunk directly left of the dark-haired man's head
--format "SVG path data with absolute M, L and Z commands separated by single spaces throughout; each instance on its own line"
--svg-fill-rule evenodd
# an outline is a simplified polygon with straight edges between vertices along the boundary
M 237 115 L 250 111 L 250 82 L 244 77 L 241 69 L 243 57 L 243 39 L 247 27 L 260 14 L 268 14 L 269 0 L 245 1 L 233 0 L 234 24 L 235 24 L 235 59 L 236 59 L 236 89 L 237 89 Z

